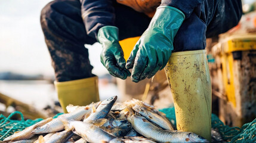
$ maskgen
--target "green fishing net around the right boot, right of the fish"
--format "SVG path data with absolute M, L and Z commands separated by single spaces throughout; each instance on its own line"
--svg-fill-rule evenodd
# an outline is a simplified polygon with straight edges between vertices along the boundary
M 176 126 L 174 107 L 164 108 L 159 111 L 165 113 L 166 117 Z M 246 123 L 242 128 L 229 127 L 224 125 L 218 116 L 212 114 L 211 124 L 213 129 L 218 130 L 225 142 L 256 142 L 256 119 L 251 123 Z

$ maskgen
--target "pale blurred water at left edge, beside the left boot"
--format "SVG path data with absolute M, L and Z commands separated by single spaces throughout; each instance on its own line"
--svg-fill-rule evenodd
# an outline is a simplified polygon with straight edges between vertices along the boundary
M 54 85 L 45 80 L 0 80 L 0 92 L 38 109 L 57 101 Z

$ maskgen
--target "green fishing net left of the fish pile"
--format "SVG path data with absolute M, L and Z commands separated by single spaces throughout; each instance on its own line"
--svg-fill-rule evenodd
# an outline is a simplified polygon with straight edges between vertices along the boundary
M 11 120 L 11 117 L 14 115 L 19 114 L 21 120 Z M 63 114 L 59 113 L 56 114 L 53 118 L 57 117 L 58 115 Z M 24 120 L 23 114 L 20 111 L 14 111 L 8 117 L 4 115 L 0 115 L 0 141 L 4 140 L 10 135 L 13 135 L 14 132 L 23 130 L 35 123 L 40 122 L 43 119 L 35 119 L 35 120 Z

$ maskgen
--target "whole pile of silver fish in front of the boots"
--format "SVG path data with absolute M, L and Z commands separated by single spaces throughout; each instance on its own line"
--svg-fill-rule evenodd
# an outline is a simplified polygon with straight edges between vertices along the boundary
M 116 102 L 117 96 L 86 106 L 67 106 L 67 114 L 48 118 L 3 142 L 208 142 L 174 126 L 153 105 L 140 100 Z

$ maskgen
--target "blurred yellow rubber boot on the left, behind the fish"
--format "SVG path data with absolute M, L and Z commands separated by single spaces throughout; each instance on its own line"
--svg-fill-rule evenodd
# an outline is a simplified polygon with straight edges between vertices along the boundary
M 54 85 L 64 113 L 67 113 L 66 106 L 69 104 L 88 105 L 100 100 L 97 76 L 67 82 L 54 82 Z

